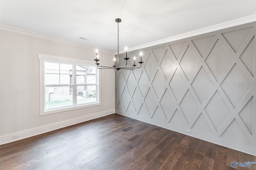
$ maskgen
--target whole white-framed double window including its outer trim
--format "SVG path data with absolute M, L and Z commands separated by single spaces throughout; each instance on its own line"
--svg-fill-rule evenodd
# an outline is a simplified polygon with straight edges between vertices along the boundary
M 99 105 L 99 73 L 89 61 L 38 54 L 40 115 Z

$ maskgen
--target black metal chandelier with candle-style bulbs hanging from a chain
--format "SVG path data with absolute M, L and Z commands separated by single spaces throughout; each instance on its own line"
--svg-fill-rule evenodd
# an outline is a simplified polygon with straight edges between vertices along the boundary
M 94 59 L 94 61 L 96 61 L 96 65 L 97 65 L 97 68 L 98 69 L 114 69 L 114 70 L 120 70 L 120 69 L 126 69 L 126 70 L 134 70 L 135 68 L 140 68 L 141 67 L 141 64 L 143 63 L 142 62 L 142 53 L 140 52 L 140 61 L 138 62 L 140 64 L 140 67 L 136 67 L 136 57 L 134 57 L 134 62 L 132 64 L 132 67 L 126 67 L 127 65 L 127 61 L 130 59 L 130 58 L 127 58 L 127 47 L 125 48 L 125 64 L 120 66 L 118 60 L 119 60 L 119 23 L 121 22 L 121 19 L 119 18 L 116 18 L 116 22 L 117 22 L 117 59 L 116 57 L 114 57 L 114 65 L 113 66 L 100 66 L 100 63 L 99 63 L 99 56 L 98 56 L 98 50 L 96 50 L 96 59 Z

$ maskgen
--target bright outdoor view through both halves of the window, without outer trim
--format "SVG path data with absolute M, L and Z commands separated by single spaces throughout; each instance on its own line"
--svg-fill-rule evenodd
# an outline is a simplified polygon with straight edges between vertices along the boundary
M 97 102 L 95 66 L 44 61 L 44 110 Z

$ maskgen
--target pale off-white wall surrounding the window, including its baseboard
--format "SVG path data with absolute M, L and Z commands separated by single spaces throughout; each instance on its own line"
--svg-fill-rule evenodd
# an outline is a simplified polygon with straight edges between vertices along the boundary
M 100 106 L 40 116 L 38 53 L 93 61 L 95 49 L 4 30 L 0 37 L 0 145 L 14 141 L 12 135 L 22 139 L 114 113 L 114 70 L 102 70 Z M 112 64 L 114 54 L 99 55 Z

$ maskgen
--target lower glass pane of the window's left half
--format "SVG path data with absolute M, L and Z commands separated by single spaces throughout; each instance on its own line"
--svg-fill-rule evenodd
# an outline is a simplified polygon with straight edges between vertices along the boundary
M 66 107 L 73 105 L 73 87 L 46 87 L 45 109 Z

